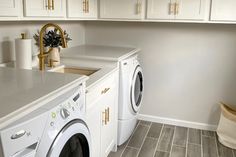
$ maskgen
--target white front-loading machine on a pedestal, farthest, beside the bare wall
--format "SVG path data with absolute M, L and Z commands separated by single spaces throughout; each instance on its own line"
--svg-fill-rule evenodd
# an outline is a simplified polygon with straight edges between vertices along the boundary
M 120 62 L 118 145 L 131 136 L 143 97 L 143 73 L 137 55 Z

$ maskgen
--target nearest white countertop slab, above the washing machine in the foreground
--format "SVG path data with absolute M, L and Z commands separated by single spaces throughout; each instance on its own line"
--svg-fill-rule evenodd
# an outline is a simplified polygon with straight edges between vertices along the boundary
M 87 79 L 74 74 L 0 68 L 0 126 L 27 109 L 41 107 L 37 105 L 47 98 Z

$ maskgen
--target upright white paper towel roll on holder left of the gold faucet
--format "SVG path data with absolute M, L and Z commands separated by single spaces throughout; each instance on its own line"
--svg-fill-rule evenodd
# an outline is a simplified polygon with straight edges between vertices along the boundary
M 16 39 L 16 68 L 32 69 L 31 39 Z

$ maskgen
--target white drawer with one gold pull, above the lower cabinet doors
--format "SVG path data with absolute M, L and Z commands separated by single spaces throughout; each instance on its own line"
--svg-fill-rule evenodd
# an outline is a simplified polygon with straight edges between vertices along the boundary
M 115 87 L 116 77 L 117 75 L 111 74 L 107 78 L 98 82 L 91 89 L 87 90 L 86 92 L 87 109 L 92 107 L 91 105 L 93 104 L 94 101 L 96 101 L 102 96 L 105 96 L 108 92 L 110 92 Z

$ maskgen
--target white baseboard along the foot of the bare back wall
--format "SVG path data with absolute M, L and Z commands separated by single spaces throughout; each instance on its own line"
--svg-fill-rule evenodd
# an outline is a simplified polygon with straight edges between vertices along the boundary
M 157 117 L 157 116 L 151 116 L 151 115 L 145 115 L 145 114 L 139 114 L 138 119 L 156 122 L 156 123 L 164 123 L 164 124 L 170 124 L 170 125 L 183 126 L 183 127 L 188 127 L 188 128 L 196 128 L 196 129 L 201 129 L 201 130 L 216 131 L 216 128 L 217 128 L 216 125 L 211 125 L 211 124 L 190 122 L 190 121 L 165 118 L 165 117 Z

